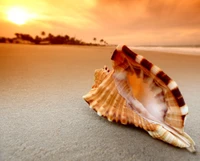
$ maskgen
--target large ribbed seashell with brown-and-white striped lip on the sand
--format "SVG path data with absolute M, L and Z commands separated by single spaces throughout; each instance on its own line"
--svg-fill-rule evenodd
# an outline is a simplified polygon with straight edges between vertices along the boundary
M 140 127 L 153 138 L 195 152 L 184 132 L 188 107 L 176 82 L 125 45 L 111 59 L 113 70 L 95 70 L 94 85 L 83 96 L 90 108 L 109 121 Z

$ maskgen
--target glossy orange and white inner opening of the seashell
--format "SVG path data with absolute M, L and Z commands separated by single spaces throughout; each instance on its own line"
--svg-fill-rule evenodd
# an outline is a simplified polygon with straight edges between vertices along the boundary
M 126 77 L 122 80 L 121 75 Z M 156 87 L 152 81 L 145 82 L 142 72 L 138 75 L 136 72 L 131 74 L 126 71 L 115 72 L 114 79 L 119 93 L 127 100 L 130 108 L 149 121 L 163 122 L 167 107 L 162 101 L 164 96 L 161 88 Z

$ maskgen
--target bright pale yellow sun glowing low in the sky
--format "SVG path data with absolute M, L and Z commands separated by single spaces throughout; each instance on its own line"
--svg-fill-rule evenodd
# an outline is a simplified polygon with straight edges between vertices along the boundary
M 17 25 L 23 25 L 29 20 L 30 16 L 24 8 L 12 7 L 7 12 L 7 18 Z

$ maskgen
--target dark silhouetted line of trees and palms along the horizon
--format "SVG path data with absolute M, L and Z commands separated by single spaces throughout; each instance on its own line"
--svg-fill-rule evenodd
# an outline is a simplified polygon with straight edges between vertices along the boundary
M 32 37 L 30 34 L 15 33 L 14 38 L 0 37 L 0 43 L 31 43 L 31 44 L 70 44 L 70 45 L 108 45 L 108 43 L 100 39 L 97 42 L 97 38 L 93 38 L 93 43 L 86 43 L 76 37 L 70 37 L 69 35 L 53 35 L 51 33 L 46 34 L 44 31 L 41 35 Z

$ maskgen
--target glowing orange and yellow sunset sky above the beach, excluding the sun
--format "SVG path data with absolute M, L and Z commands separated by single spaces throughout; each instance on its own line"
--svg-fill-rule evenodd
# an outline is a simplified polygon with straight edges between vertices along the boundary
M 12 7 L 29 14 L 17 25 Z M 14 33 L 69 35 L 109 44 L 200 44 L 200 0 L 0 0 L 0 36 Z

